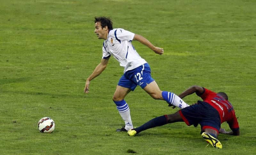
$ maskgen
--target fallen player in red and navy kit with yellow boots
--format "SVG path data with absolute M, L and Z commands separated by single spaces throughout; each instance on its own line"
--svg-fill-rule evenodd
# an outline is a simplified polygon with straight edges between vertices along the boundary
M 203 101 L 197 101 L 196 104 L 180 109 L 174 114 L 156 117 L 138 128 L 129 130 L 128 135 L 135 136 L 146 129 L 174 122 L 185 122 L 188 126 L 194 125 L 195 127 L 200 124 L 204 140 L 215 148 L 222 148 L 220 141 L 217 139 L 219 132 L 230 135 L 240 134 L 235 110 L 228 101 L 226 93 L 212 92 L 195 85 L 182 92 L 179 97 L 182 99 L 194 92 Z M 220 129 L 220 124 L 223 122 L 227 122 L 232 131 L 226 132 L 225 129 Z

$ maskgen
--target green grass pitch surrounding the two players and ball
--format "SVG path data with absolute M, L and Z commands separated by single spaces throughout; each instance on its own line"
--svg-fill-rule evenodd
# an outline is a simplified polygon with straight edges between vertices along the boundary
M 0 154 L 254 154 L 255 6 L 254 0 L 0 0 Z M 136 137 L 116 133 L 124 122 L 112 95 L 123 68 L 111 57 L 83 93 L 102 56 L 95 16 L 164 48 L 156 55 L 133 41 L 161 90 L 179 94 L 200 85 L 226 92 L 241 135 L 220 135 L 217 150 L 205 148 L 200 127 L 184 122 Z M 135 126 L 178 110 L 140 87 L 125 100 Z M 37 129 L 46 116 L 56 123 L 52 134 Z

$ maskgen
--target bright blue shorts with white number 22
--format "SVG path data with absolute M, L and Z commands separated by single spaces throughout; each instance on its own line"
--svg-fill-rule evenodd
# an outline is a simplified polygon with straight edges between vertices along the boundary
M 130 88 L 132 91 L 139 85 L 142 89 L 154 81 L 151 78 L 151 70 L 148 63 L 144 63 L 143 65 L 133 69 L 128 70 L 124 73 L 124 75 L 120 78 L 117 85 Z

